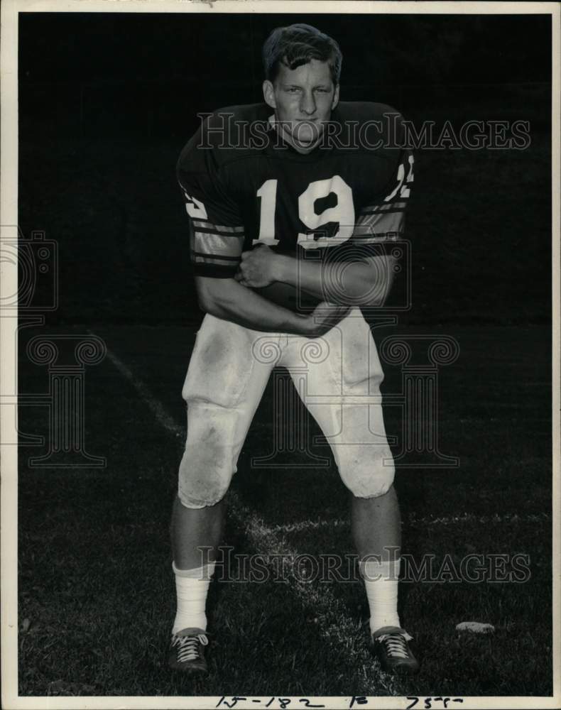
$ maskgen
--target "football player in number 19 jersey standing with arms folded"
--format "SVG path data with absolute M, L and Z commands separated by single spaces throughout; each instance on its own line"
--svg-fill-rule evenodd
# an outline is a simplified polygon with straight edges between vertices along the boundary
M 300 396 L 351 493 L 371 648 L 385 670 L 418 670 L 397 611 L 401 519 L 383 373 L 361 313 L 390 288 L 413 158 L 391 135 L 396 111 L 339 102 L 341 63 L 316 28 L 277 28 L 263 46 L 264 102 L 207 116 L 178 161 L 206 315 L 183 387 L 187 442 L 172 520 L 177 670 L 207 670 L 205 603 L 224 496 L 276 365 L 297 387 L 305 368 Z

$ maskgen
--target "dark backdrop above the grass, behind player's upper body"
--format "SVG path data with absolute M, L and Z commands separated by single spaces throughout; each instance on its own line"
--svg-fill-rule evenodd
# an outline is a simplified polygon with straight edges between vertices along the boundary
M 59 247 L 65 322 L 197 322 L 175 160 L 197 112 L 261 100 L 261 45 L 307 21 L 342 98 L 422 121 L 530 121 L 529 148 L 417 151 L 402 322 L 550 318 L 548 16 L 22 13 L 20 225 Z

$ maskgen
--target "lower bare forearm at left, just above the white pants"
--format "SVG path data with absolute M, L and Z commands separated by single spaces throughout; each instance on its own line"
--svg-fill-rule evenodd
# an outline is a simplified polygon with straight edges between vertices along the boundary
M 310 317 L 271 303 L 234 279 L 220 279 L 219 283 L 197 279 L 197 293 L 202 309 L 217 318 L 253 330 L 312 334 Z

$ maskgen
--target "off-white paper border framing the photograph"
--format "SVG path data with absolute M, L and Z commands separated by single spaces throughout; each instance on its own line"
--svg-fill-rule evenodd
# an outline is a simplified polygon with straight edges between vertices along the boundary
M 472 708 L 543 708 L 561 706 L 560 654 L 560 10 L 549 2 L 366 2 L 319 0 L 4 0 L 1 4 L 1 185 L 0 223 L 18 224 L 18 15 L 27 12 L 72 13 L 430 13 L 430 14 L 548 14 L 552 18 L 552 523 L 553 523 L 553 667 L 552 697 L 464 697 Z M 1 226 L 0 240 L 13 240 L 15 227 Z M 17 291 L 17 266 L 0 264 L 0 297 Z M 0 318 L 0 382 L 2 392 L 17 392 L 16 317 Z M 53 708 L 214 708 L 219 697 L 21 697 L 18 696 L 17 607 L 17 447 L 6 444 L 17 435 L 16 407 L 2 408 L 1 460 L 1 688 L 2 707 Z M 557 669 L 557 670 L 555 670 Z M 422 700 L 422 699 L 421 699 Z M 266 701 L 266 698 L 263 698 Z M 348 707 L 351 698 L 310 697 L 327 708 Z M 369 698 L 368 708 L 405 708 L 402 697 Z M 251 704 L 239 703 L 242 710 Z M 255 705 L 253 705 L 255 707 Z

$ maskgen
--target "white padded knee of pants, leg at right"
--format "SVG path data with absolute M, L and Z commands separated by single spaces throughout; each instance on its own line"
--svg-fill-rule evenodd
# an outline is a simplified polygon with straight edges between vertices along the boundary
M 387 444 L 347 446 L 339 450 L 337 466 L 344 485 L 356 498 L 378 498 L 393 484 L 395 466 Z

